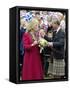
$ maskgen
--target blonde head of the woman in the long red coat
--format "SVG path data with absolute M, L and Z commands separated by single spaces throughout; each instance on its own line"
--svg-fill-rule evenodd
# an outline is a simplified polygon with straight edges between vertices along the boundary
M 27 25 L 27 30 L 28 32 L 31 32 L 31 31 L 37 31 L 38 30 L 38 26 L 39 26 L 39 22 L 37 19 L 32 19 L 28 25 Z

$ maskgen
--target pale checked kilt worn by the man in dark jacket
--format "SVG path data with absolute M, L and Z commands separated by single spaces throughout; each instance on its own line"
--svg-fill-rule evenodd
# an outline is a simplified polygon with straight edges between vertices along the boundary
M 53 59 L 53 75 L 65 75 L 65 61 L 64 59 Z

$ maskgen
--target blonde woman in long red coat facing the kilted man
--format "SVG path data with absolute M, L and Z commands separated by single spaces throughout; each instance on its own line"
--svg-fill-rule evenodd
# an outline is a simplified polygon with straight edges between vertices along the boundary
M 28 32 L 23 36 L 24 59 L 22 68 L 22 80 L 43 79 L 43 70 L 39 47 L 36 41 L 35 31 L 38 30 L 38 21 L 32 20 L 27 27 Z

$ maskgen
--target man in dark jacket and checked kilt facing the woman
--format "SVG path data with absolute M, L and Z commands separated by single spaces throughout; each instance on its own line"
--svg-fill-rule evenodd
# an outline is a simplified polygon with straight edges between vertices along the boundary
M 65 33 L 60 27 L 60 22 L 55 20 L 52 22 L 53 26 L 53 38 L 48 38 L 44 33 L 42 33 L 42 37 L 44 37 L 48 41 L 48 47 L 52 49 L 53 52 L 53 75 L 54 77 L 63 77 L 65 75 L 65 52 L 64 52 L 64 44 L 65 44 Z

